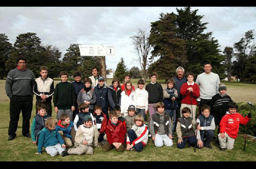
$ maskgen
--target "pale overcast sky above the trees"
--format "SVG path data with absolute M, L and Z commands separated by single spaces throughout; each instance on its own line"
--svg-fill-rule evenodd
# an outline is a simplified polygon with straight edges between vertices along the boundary
M 245 32 L 256 29 L 256 7 L 191 9 L 204 15 L 202 21 L 209 23 L 206 32 L 213 32 L 222 51 L 233 47 Z M 36 33 L 42 44 L 55 45 L 62 55 L 70 43 L 115 45 L 116 55 L 106 56 L 107 69 L 116 70 L 121 57 L 128 69 L 140 68 L 134 61 L 137 55 L 130 37 L 138 28 L 150 31 L 150 22 L 158 20 L 161 12 L 177 13 L 175 7 L 0 7 L 0 33 L 12 44 L 21 33 Z

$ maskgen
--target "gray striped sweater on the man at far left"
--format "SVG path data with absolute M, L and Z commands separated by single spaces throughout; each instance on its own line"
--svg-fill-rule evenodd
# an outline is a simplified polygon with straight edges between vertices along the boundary
M 33 87 L 35 79 L 31 70 L 21 71 L 17 68 L 9 71 L 5 81 L 6 95 L 11 99 L 12 95 L 16 96 L 33 96 Z

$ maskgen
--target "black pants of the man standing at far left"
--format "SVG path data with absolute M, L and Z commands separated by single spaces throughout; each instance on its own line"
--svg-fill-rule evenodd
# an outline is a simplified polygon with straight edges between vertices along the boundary
M 29 133 L 29 120 L 33 107 L 32 96 L 12 96 L 10 99 L 10 122 L 8 135 L 16 136 L 20 111 L 22 112 L 22 135 Z

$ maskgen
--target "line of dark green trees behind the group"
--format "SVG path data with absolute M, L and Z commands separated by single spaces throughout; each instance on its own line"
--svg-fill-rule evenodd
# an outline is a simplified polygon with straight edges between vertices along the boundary
M 198 10 L 190 7 L 178 9 L 177 14 L 160 13 L 159 20 L 151 22 L 150 33 L 139 28 L 136 35 L 131 36 L 134 51 L 138 54 L 138 67 L 127 71 L 123 58 L 117 64 L 115 77 L 121 81 L 125 74 L 145 80 L 153 71 L 159 79 L 176 75 L 176 68 L 182 66 L 185 72 L 192 71 L 195 77 L 202 73 L 203 63 L 212 63 L 212 72 L 220 79 L 228 75 L 236 76 L 241 82 L 256 80 L 256 46 L 253 30 L 244 34 L 233 47 L 220 51 L 218 40 L 212 37 L 212 32 L 205 32 L 207 22 L 202 22 L 204 16 L 197 15 Z M 50 77 L 58 77 L 61 70 L 69 74 L 76 71 L 82 77 L 91 76 L 93 66 L 100 67 L 99 56 L 80 56 L 79 44 L 70 44 L 61 60 L 62 52 L 53 45 L 42 45 L 36 33 L 24 33 L 17 36 L 12 45 L 8 36 L 0 34 L 0 77 L 3 79 L 8 71 L 16 67 L 16 58 L 23 54 L 28 60 L 28 68 L 36 77 L 40 76 L 40 66 L 49 68 Z M 148 69 L 147 69 L 148 66 Z M 99 69 L 100 70 L 100 69 Z

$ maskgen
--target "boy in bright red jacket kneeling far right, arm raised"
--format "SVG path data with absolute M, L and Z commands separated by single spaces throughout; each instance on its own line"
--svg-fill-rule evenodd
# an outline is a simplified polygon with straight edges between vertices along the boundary
M 222 117 L 220 121 L 220 151 L 225 151 L 225 148 L 231 150 L 234 148 L 234 142 L 238 135 L 239 124 L 246 125 L 251 120 L 252 114 L 249 113 L 246 117 L 236 112 L 237 104 L 235 102 L 228 103 L 229 114 Z

